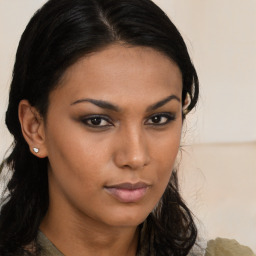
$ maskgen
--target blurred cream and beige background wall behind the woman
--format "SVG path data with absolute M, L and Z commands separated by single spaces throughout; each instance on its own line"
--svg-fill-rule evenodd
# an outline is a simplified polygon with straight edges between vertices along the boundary
M 19 38 L 45 0 L 0 0 L 0 159 Z M 154 0 L 184 37 L 201 83 L 177 160 L 181 190 L 205 240 L 256 251 L 256 1 Z

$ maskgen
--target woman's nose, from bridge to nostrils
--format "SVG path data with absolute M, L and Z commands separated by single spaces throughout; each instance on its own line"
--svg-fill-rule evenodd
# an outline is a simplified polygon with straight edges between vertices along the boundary
M 142 129 L 125 129 L 115 143 L 114 162 L 119 168 L 137 170 L 150 163 L 149 148 Z

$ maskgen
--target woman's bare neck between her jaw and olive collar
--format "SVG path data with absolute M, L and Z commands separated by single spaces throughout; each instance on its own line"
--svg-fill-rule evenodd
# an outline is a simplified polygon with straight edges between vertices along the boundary
M 64 255 L 72 256 L 74 252 L 76 256 L 136 255 L 139 239 L 136 226 L 112 227 L 74 215 L 67 209 L 60 215 L 54 209 L 49 206 L 40 229 Z

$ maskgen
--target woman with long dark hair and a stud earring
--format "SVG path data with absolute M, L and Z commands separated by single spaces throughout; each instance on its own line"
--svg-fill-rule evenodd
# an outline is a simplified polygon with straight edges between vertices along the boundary
M 149 0 L 50 0 L 17 50 L 0 255 L 188 255 L 178 190 L 198 78 Z

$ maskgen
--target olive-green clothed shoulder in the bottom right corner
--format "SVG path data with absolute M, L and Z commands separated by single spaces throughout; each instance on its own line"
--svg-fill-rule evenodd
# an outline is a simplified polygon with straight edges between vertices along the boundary
M 205 256 L 256 256 L 248 247 L 234 239 L 216 238 L 207 243 Z

